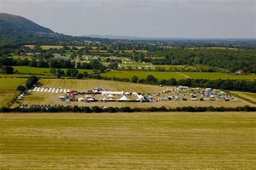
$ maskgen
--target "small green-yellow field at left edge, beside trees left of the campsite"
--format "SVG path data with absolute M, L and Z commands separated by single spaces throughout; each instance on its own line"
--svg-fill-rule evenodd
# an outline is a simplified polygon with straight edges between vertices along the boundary
M 25 81 L 23 78 L 0 78 L 0 107 L 7 106 L 18 95 L 16 89 Z

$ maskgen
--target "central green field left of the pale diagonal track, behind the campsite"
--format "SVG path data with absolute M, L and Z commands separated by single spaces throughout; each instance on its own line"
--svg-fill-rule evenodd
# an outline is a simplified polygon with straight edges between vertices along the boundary
M 139 79 L 145 79 L 149 75 L 153 75 L 156 77 L 158 80 L 161 79 L 171 79 L 171 78 L 176 78 L 177 80 L 179 79 L 186 79 L 185 76 L 182 76 L 179 73 L 176 72 L 154 72 L 154 71 L 110 71 L 106 73 L 102 73 L 102 76 L 107 76 L 107 77 L 118 77 L 118 78 L 132 78 L 132 76 L 138 76 Z

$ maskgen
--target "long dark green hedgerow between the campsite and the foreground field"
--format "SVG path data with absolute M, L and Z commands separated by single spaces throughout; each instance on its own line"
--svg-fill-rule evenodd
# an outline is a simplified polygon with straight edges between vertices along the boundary
M 242 106 L 242 107 L 176 107 L 176 108 L 166 108 L 162 107 L 149 107 L 149 108 L 130 108 L 130 107 L 107 107 L 102 108 L 98 106 L 92 107 L 80 107 L 80 106 L 57 106 L 57 107 L 30 107 L 30 108 L 9 108 L 2 107 L 0 112 L 83 112 L 83 113 L 116 113 L 116 112 L 255 112 L 256 107 Z

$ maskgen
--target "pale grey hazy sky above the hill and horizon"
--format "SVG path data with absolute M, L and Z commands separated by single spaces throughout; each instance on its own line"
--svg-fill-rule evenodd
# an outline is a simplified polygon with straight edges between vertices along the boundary
M 256 38 L 256 0 L 0 0 L 0 12 L 72 36 Z

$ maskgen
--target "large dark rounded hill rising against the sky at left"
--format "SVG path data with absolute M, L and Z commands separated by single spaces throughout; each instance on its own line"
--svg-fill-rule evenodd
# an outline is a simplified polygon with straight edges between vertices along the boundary
M 29 19 L 9 13 L 0 13 L 0 34 L 18 33 L 54 33 L 48 28 L 44 28 Z

